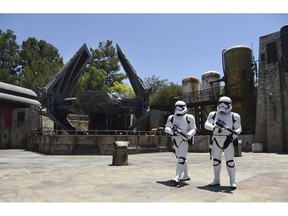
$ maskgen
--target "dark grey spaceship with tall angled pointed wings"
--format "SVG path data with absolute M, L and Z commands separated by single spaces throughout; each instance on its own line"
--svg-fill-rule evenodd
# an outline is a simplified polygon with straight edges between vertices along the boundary
M 118 44 L 116 48 L 119 61 L 135 92 L 135 98 L 118 98 L 104 91 L 77 92 L 76 97 L 71 97 L 71 91 L 91 59 L 87 45 L 83 44 L 70 61 L 39 91 L 39 101 L 43 106 L 41 113 L 70 134 L 77 132 L 68 119 L 70 114 L 88 115 L 88 130 L 134 130 L 140 127 L 150 116 L 151 91 L 138 77 Z M 136 119 L 133 120 L 133 117 Z

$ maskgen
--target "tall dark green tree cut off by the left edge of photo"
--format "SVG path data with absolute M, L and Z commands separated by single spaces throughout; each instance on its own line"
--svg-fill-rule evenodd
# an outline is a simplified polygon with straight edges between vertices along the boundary
M 19 72 L 19 45 L 11 29 L 0 29 L 0 81 L 17 84 Z

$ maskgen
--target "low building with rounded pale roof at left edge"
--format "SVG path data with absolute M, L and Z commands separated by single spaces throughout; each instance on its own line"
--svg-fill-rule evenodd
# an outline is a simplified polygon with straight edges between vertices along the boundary
M 26 136 L 41 125 L 34 91 L 0 82 L 0 149 L 25 148 Z

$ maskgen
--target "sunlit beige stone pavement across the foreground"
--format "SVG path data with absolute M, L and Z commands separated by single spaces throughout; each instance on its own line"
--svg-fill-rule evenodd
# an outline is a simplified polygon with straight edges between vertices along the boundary
M 236 157 L 237 189 L 229 188 L 225 163 L 221 186 L 208 153 L 188 153 L 191 181 L 178 188 L 171 152 L 128 155 L 127 166 L 112 156 L 43 155 L 0 150 L 0 202 L 287 202 L 288 155 L 242 153 Z M 223 157 L 224 160 L 224 157 Z

